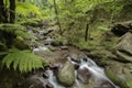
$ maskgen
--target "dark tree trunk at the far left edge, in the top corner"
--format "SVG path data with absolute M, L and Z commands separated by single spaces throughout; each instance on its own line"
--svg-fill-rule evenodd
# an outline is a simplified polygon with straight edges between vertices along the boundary
M 7 18 L 7 12 L 6 12 L 6 6 L 3 3 L 3 0 L 0 0 L 0 23 L 7 23 L 8 18 Z

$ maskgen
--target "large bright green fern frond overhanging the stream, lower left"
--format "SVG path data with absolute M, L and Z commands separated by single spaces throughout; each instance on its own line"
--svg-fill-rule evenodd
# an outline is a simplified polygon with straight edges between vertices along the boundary
M 21 73 L 43 68 L 44 64 L 41 57 L 33 54 L 31 51 L 19 51 L 16 48 L 10 50 L 9 54 L 2 61 L 3 66 L 9 69 L 13 67 L 14 70 L 19 69 Z

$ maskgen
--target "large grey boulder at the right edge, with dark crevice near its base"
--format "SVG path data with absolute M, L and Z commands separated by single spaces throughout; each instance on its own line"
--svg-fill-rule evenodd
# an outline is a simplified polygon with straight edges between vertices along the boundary
M 116 54 L 119 61 L 132 62 L 132 34 L 128 32 L 116 46 Z

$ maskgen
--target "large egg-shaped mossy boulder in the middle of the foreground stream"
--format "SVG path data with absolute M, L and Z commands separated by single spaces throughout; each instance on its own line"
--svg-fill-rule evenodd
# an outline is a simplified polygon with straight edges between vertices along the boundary
M 64 66 L 58 69 L 57 79 L 58 82 L 67 87 L 73 86 L 75 82 L 75 69 L 74 65 L 69 61 L 67 61 Z

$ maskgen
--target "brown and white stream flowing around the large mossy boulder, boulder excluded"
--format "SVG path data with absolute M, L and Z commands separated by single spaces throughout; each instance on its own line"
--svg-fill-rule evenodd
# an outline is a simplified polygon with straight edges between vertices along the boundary
M 120 88 L 106 76 L 103 68 L 99 67 L 78 48 L 73 46 L 64 46 L 65 48 L 62 48 L 62 46 L 52 46 L 51 42 L 53 38 L 51 37 L 41 38 L 41 43 L 42 41 L 43 43 L 50 43 L 34 47 L 33 52 L 44 59 L 46 58 L 46 61 L 51 62 L 51 65 L 46 69 L 30 76 L 30 81 L 32 80 L 33 84 L 38 86 L 33 88 Z M 48 51 L 50 46 L 55 51 Z M 77 59 L 79 59 L 79 62 Z M 75 67 L 75 81 L 70 87 L 59 84 L 57 79 L 58 69 L 61 69 L 67 61 Z

